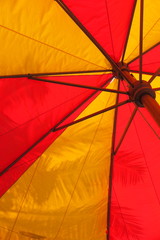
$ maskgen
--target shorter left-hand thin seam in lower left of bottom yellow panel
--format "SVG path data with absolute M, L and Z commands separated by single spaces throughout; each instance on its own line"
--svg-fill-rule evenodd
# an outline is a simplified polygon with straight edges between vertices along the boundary
M 37 166 L 35 167 L 35 170 L 34 170 L 33 175 L 32 175 L 32 177 L 31 177 L 30 183 L 29 183 L 29 185 L 28 185 L 28 187 L 27 187 L 26 193 L 24 194 L 24 197 L 23 197 L 22 202 L 21 202 L 21 206 L 20 206 L 19 211 L 18 211 L 18 213 L 17 213 L 17 217 L 16 217 L 16 219 L 15 219 L 15 221 L 14 221 L 14 223 L 13 223 L 12 229 L 9 230 L 9 231 L 10 231 L 10 234 L 9 234 L 9 236 L 7 237 L 7 240 L 10 240 L 11 237 L 12 237 L 12 232 L 15 232 L 15 231 L 14 231 L 14 228 L 15 228 L 16 223 L 17 223 L 17 221 L 18 221 L 18 217 L 19 217 L 19 215 L 20 215 L 20 213 L 21 213 L 21 209 L 22 209 L 23 204 L 24 204 L 24 202 L 25 202 L 25 200 L 26 200 L 27 194 L 28 194 L 28 192 L 29 192 L 30 186 L 31 186 L 31 184 L 32 184 L 32 181 L 33 181 L 33 178 L 34 178 L 34 176 L 35 176 L 35 173 L 36 173 L 36 171 L 37 171 L 37 169 L 38 169 L 38 166 L 39 166 L 39 162 L 37 162 Z

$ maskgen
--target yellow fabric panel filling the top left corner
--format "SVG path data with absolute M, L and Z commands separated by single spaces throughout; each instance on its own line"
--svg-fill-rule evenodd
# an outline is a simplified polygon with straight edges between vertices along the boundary
M 0 45 L 0 75 L 110 68 L 53 0 L 1 1 Z

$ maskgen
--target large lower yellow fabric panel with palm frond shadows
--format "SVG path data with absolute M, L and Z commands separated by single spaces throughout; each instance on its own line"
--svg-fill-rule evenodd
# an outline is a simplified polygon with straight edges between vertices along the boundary
M 79 117 L 115 100 L 103 92 Z M 106 239 L 113 118 L 114 110 L 66 129 L 8 190 L 0 200 L 1 239 Z

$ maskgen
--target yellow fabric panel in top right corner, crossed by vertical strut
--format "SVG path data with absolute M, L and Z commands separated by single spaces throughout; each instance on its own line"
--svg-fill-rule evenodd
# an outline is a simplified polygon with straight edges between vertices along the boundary
M 144 1 L 144 28 L 143 28 L 143 52 L 159 42 L 160 29 L 160 2 L 159 0 Z M 137 1 L 136 10 L 129 35 L 125 62 L 128 63 L 139 55 L 139 31 L 140 31 L 140 0 Z

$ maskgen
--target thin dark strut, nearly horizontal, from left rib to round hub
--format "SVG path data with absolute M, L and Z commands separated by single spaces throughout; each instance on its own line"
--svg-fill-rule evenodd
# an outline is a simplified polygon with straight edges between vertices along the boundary
M 127 94 L 128 95 L 128 92 L 124 92 L 124 91 L 117 91 L 117 90 L 113 90 L 113 89 L 105 89 L 105 88 L 101 88 L 101 87 L 98 88 L 98 87 L 86 86 L 86 85 L 69 83 L 69 82 L 60 82 L 60 81 L 49 80 L 49 79 L 44 79 L 44 78 L 36 78 L 36 77 L 33 77 L 33 76 L 28 77 L 28 79 L 41 81 L 41 82 L 47 82 L 47 83 L 55 83 L 55 84 L 71 86 L 71 87 L 86 88 L 86 89 L 97 90 L 97 91 L 102 91 L 102 92 L 121 93 L 121 94 Z

